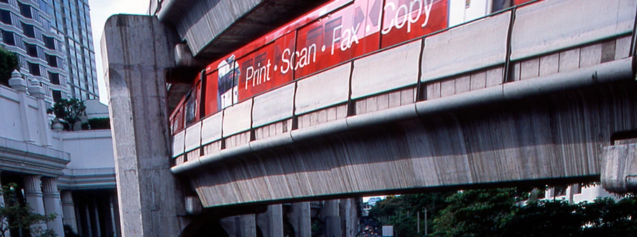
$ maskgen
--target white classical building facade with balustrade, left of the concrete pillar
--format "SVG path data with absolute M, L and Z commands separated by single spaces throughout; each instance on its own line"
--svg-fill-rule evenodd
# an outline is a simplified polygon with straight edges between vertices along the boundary
M 17 72 L 9 84 L 0 85 L 0 183 L 16 183 L 36 213 L 57 214 L 47 228 L 59 236 L 63 224 L 81 236 L 119 236 L 110 130 L 54 131 L 43 86 Z M 89 110 L 108 116 L 105 105 Z

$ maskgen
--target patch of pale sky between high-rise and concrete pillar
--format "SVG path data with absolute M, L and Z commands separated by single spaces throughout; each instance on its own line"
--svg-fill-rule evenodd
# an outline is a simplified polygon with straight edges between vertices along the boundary
M 106 86 L 104 84 L 104 70 L 102 68 L 102 52 L 100 41 L 104 31 L 104 24 L 111 15 L 119 13 L 145 15 L 149 0 L 89 0 L 91 8 L 91 26 L 95 48 L 95 63 L 97 65 L 97 80 L 99 83 L 100 102 L 108 105 Z

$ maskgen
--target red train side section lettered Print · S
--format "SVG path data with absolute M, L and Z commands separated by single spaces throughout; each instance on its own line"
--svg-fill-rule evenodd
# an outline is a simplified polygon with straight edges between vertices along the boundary
M 288 33 L 238 60 L 238 101 L 292 82 L 293 74 L 287 68 L 293 61 L 284 56 L 294 52 L 294 38 L 295 32 Z

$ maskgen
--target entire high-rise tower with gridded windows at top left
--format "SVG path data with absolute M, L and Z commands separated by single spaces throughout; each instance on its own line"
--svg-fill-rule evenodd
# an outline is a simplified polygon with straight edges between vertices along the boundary
M 0 42 L 54 101 L 99 98 L 88 0 L 0 0 Z

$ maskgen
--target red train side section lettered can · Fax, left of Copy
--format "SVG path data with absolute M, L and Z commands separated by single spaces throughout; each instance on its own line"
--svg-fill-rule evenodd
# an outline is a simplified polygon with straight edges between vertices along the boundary
M 295 79 L 379 49 L 383 0 L 355 1 L 302 27 L 297 49 L 284 55 L 294 62 Z

